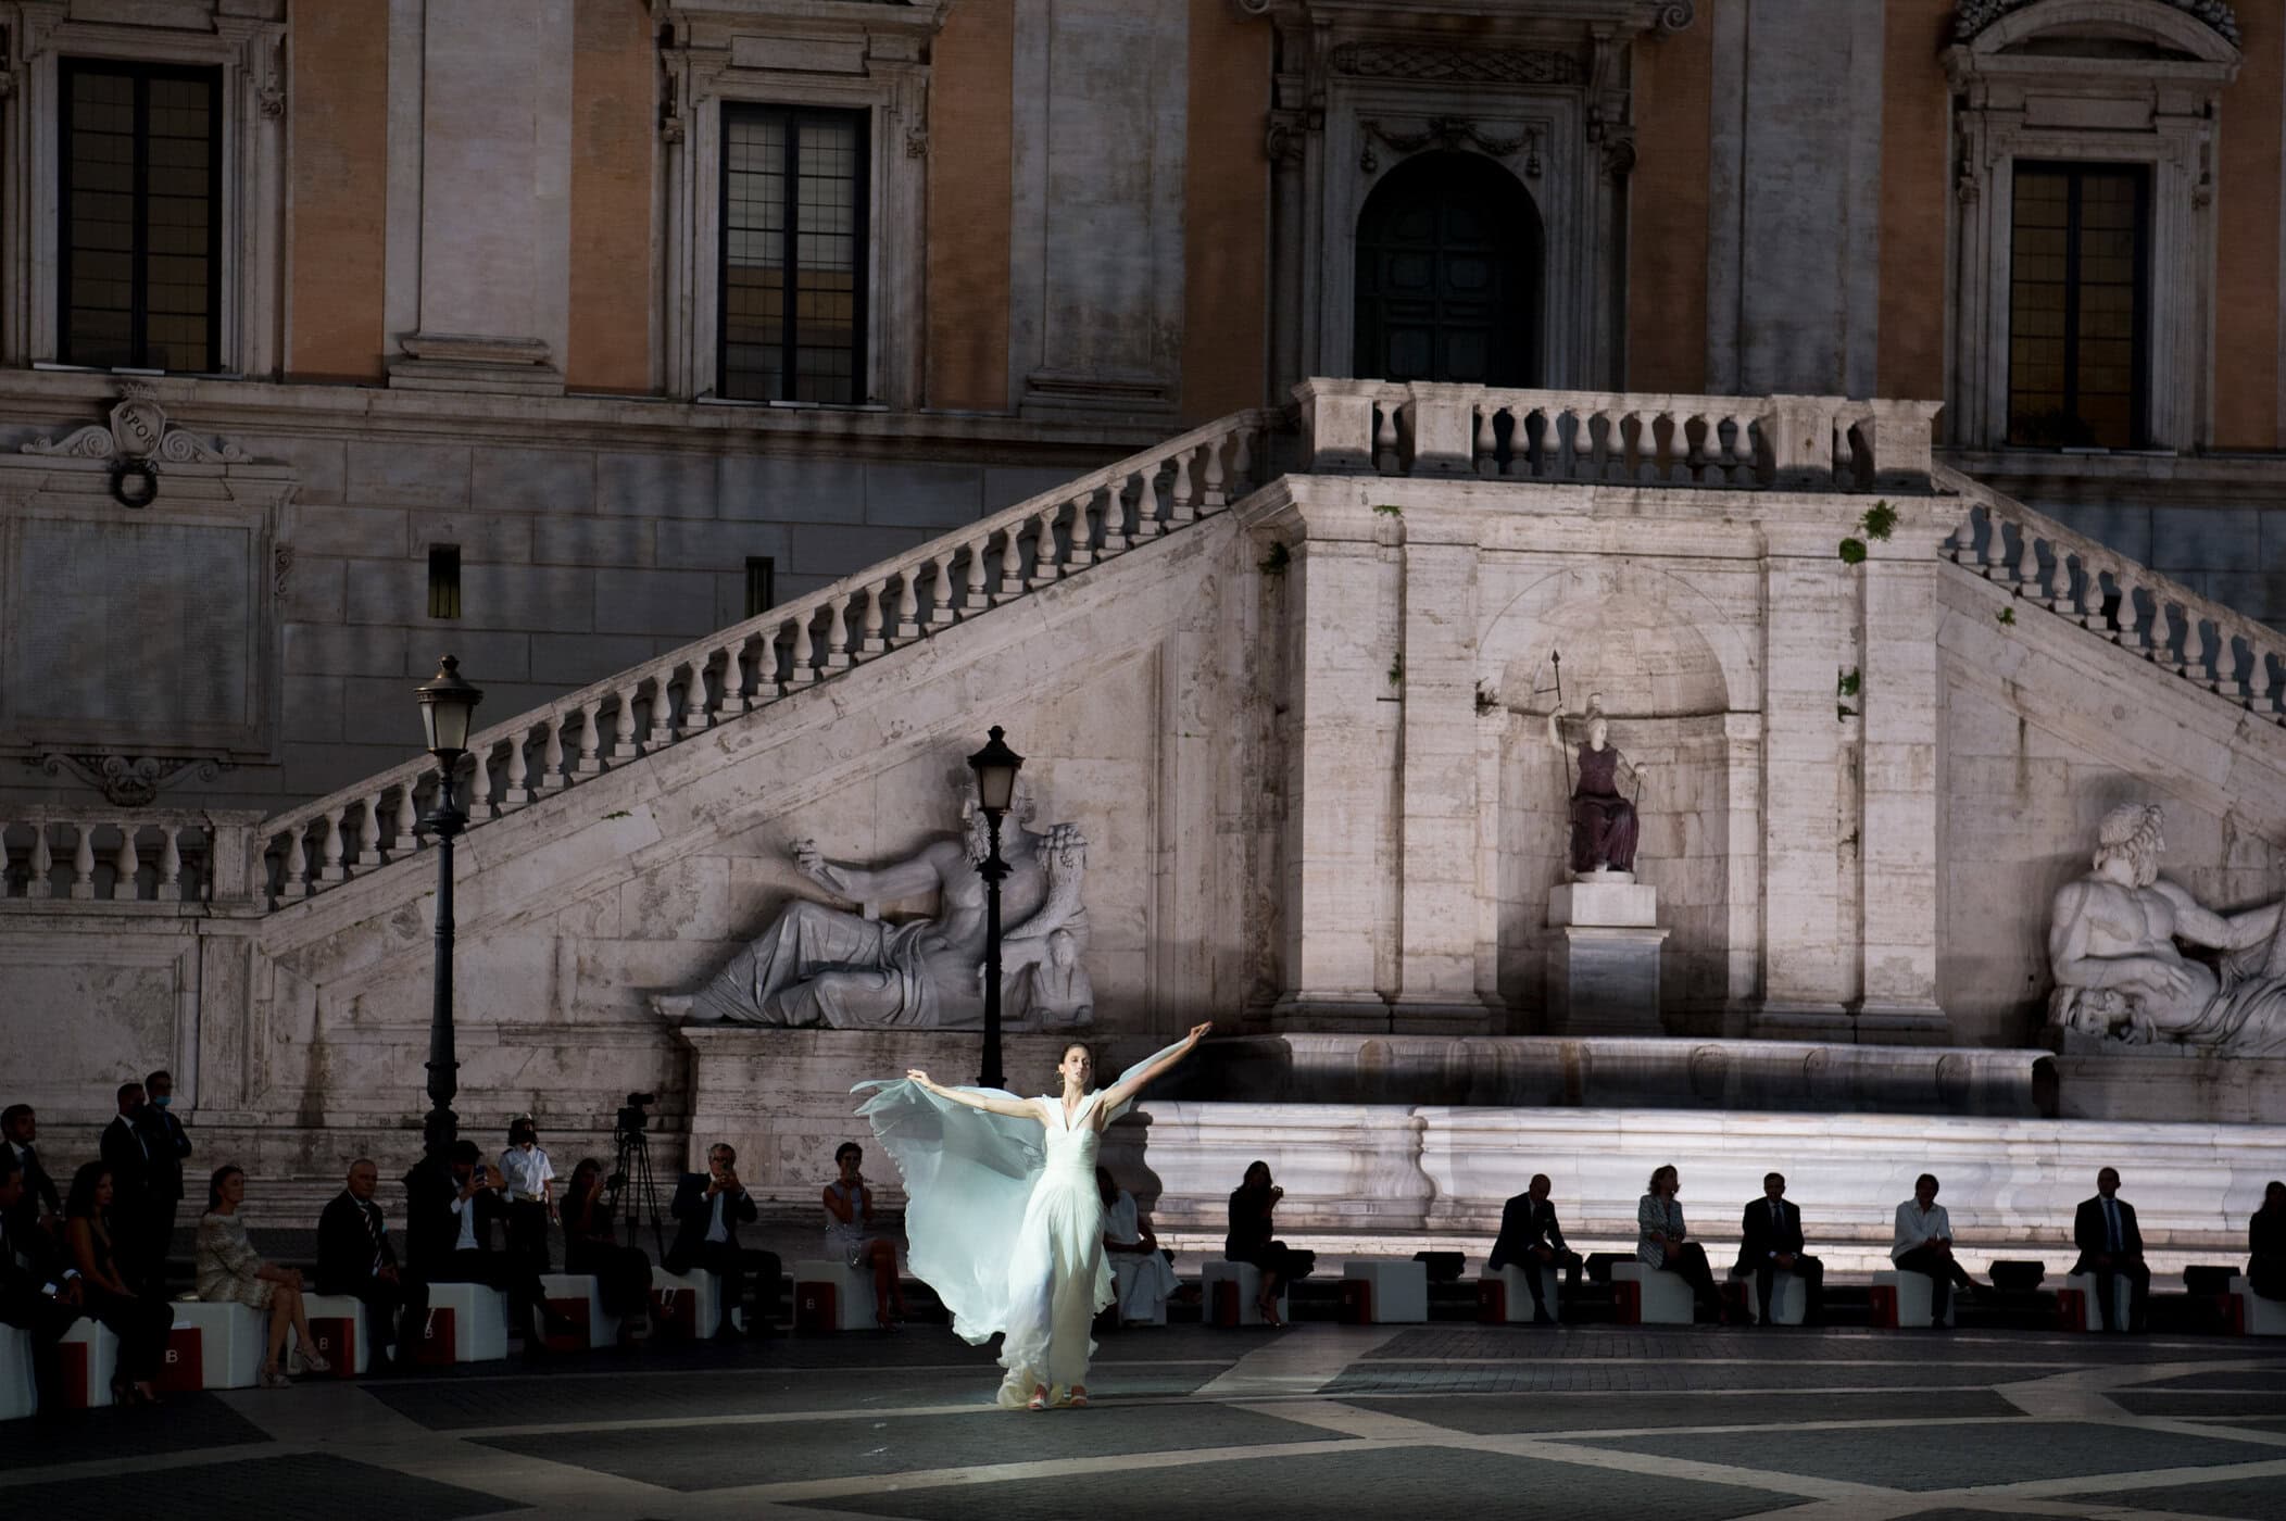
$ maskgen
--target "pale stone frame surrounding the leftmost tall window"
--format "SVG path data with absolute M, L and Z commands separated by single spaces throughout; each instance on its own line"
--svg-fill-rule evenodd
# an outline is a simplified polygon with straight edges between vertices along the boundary
M 235 7 L 238 11 L 251 7 Z M 274 7 L 283 11 L 283 5 Z M 0 5 L 0 364 L 55 364 L 62 215 L 62 59 L 190 64 L 222 71 L 219 375 L 274 375 L 283 263 L 286 25 L 215 0 L 151 0 L 149 25 L 66 21 L 64 5 Z M 75 366 L 78 368 L 78 366 Z

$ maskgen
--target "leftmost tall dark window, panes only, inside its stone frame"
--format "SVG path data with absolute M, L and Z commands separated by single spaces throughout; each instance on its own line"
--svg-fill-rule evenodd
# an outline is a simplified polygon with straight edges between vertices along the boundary
M 213 371 L 222 71 L 64 59 L 57 359 Z

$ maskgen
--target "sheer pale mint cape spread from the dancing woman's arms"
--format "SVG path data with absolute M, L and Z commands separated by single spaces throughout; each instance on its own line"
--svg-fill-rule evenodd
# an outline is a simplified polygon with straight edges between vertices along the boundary
M 1111 1086 L 1138 1075 L 1182 1041 L 1120 1073 Z M 905 1178 L 905 1263 L 937 1290 L 953 1313 L 953 1331 L 985 1343 L 1008 1327 L 1008 1251 L 1024 1224 L 1024 1205 L 1047 1160 L 1047 1132 L 1036 1118 L 985 1114 L 896 1080 L 860 1082 L 873 1096 L 857 1114 L 889 1150 Z M 962 1089 L 1017 1098 L 1001 1089 Z M 1061 1102 L 1047 1098 L 1042 1102 Z M 1120 1105 L 1104 1123 L 1127 1114 Z

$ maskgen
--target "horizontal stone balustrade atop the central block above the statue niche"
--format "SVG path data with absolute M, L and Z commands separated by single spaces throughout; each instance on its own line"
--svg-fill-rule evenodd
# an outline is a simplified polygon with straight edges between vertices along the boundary
M 1312 473 L 1559 485 L 1888 492 L 1929 487 L 1939 403 L 1628 396 L 1305 380 Z

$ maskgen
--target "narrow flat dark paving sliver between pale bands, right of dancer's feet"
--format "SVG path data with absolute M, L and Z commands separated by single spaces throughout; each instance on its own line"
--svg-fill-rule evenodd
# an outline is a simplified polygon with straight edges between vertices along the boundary
M 1639 1395 L 1632 1400 L 1566 1400 L 1564 1395 L 1477 1400 L 1349 1400 L 1390 1416 L 1429 1420 L 1474 1436 L 1516 1432 L 1596 1432 L 1646 1425 L 1795 1425 L 1801 1420 L 1934 1420 L 1943 1416 L 2007 1418 L 2016 1407 L 1984 1388 L 1861 1393 L 1861 1395 Z

